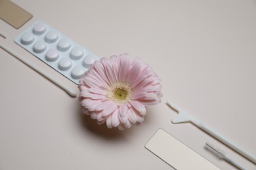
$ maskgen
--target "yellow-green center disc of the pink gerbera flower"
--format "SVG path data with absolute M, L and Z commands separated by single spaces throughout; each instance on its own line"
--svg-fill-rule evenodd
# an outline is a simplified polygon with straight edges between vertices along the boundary
M 132 90 L 127 83 L 116 82 L 111 84 L 106 93 L 106 97 L 117 104 L 128 103 L 131 100 Z

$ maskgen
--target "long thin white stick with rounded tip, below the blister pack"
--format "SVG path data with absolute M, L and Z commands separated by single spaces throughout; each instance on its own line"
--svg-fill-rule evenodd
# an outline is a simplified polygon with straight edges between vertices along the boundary
M 62 88 L 62 90 L 64 90 L 65 92 L 67 92 L 70 96 L 72 97 L 76 97 L 76 92 L 74 92 L 74 90 L 71 90 L 70 88 L 67 88 L 66 86 L 64 86 L 63 84 L 61 84 L 60 82 L 58 82 L 57 80 L 54 80 L 54 78 L 50 75 L 47 75 L 46 73 L 44 73 L 41 69 L 38 69 L 37 67 L 35 67 L 35 65 L 33 65 L 32 63 L 30 63 L 29 61 L 26 61 L 25 59 L 22 59 L 22 57 L 20 57 L 18 54 L 16 54 L 15 52 L 12 52 L 12 50 L 10 50 L 7 46 L 4 46 L 3 44 L 0 44 L 0 48 L 2 48 L 3 50 L 5 50 L 6 52 L 8 52 L 9 54 L 11 54 L 12 56 L 14 56 L 15 58 L 17 58 L 18 60 L 22 61 L 22 63 L 28 65 L 28 67 L 32 68 L 34 71 L 36 71 L 37 73 L 45 76 L 45 78 L 47 78 L 48 80 L 50 80 L 51 82 L 53 82 L 54 84 L 56 84 L 58 87 Z

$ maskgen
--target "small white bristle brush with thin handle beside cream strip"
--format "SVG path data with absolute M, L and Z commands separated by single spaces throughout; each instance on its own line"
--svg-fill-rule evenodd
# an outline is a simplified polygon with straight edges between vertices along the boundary
M 236 161 L 232 160 L 231 158 L 229 158 L 228 156 L 226 156 L 226 153 L 223 152 L 223 150 L 221 150 L 220 148 L 217 148 L 215 146 L 213 146 L 213 144 L 211 143 L 205 143 L 205 148 L 207 148 L 209 151 L 213 152 L 213 154 L 217 155 L 219 158 L 228 161 L 229 163 L 231 163 L 232 165 L 238 167 L 238 169 L 242 169 L 245 170 L 244 167 L 242 167 L 241 165 L 239 165 Z

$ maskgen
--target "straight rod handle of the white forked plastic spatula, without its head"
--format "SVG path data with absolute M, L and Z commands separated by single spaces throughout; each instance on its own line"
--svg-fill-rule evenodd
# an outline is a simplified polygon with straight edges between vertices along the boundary
M 202 122 L 200 122 L 199 124 L 196 124 L 196 126 L 200 127 L 200 129 L 203 129 L 203 131 L 206 131 L 207 133 L 209 133 L 210 135 L 212 135 L 213 137 L 215 137 L 219 141 L 223 142 L 227 146 L 230 146 L 230 148 L 236 150 L 236 152 L 242 154 L 243 156 L 245 156 L 249 160 L 253 161 L 253 163 L 256 163 L 255 156 L 249 154 L 248 152 L 246 152 L 245 150 L 243 150 L 242 148 L 240 148 L 236 144 L 228 141 L 228 139 L 226 139 L 223 136 L 219 135 L 217 132 L 213 131 L 210 127 L 205 126 Z

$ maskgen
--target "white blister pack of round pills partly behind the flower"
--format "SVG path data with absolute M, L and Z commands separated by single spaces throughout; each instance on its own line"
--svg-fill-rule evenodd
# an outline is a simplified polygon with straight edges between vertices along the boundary
M 15 37 L 14 42 L 75 84 L 78 84 L 89 65 L 100 59 L 42 21 L 28 27 Z

